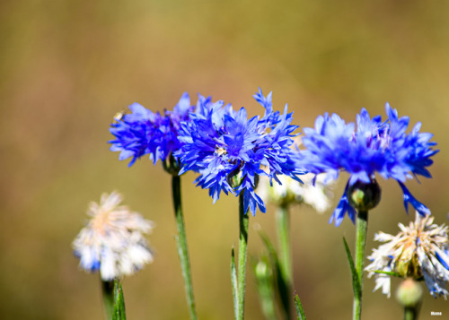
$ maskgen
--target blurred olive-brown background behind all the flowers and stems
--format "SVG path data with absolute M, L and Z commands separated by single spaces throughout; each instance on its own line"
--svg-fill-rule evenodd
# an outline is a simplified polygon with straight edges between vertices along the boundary
M 157 227 L 154 264 L 124 281 L 129 319 L 187 319 L 175 234 L 170 177 L 140 160 L 132 168 L 110 152 L 116 112 L 140 102 L 172 108 L 183 91 L 261 108 L 261 87 L 274 105 L 295 111 L 295 124 L 336 112 L 348 121 L 365 107 L 384 115 L 389 101 L 411 125 L 435 134 L 441 151 L 432 179 L 409 181 L 437 223 L 449 211 L 449 3 L 445 1 L 4 1 L 0 3 L 2 109 L 0 317 L 100 319 L 97 275 L 80 272 L 71 241 L 87 203 L 119 190 L 125 203 Z M 194 98 L 195 99 L 195 98 Z M 342 175 L 335 186 L 337 203 Z M 237 199 L 215 205 L 182 181 L 193 281 L 201 319 L 231 319 L 230 251 L 238 241 Z M 374 232 L 397 232 L 414 218 L 401 189 L 381 178 L 383 201 L 370 214 Z M 254 226 L 271 237 L 274 207 L 251 218 L 250 255 L 263 253 Z M 295 289 L 310 319 L 348 319 L 350 273 L 341 238 L 353 244 L 350 221 L 335 228 L 330 212 L 292 210 Z M 396 283 L 394 283 L 396 284 Z M 394 298 L 365 281 L 364 318 L 398 319 Z M 393 285 L 394 288 L 394 285 Z M 246 316 L 261 319 L 248 273 Z M 428 292 L 421 319 L 449 315 Z

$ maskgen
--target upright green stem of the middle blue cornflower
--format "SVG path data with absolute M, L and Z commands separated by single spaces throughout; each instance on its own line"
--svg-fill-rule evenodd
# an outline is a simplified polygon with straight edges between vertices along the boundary
M 250 225 L 250 215 L 244 212 L 243 192 L 239 195 L 239 257 L 237 276 L 237 320 L 243 320 L 245 312 L 245 277 L 246 277 L 246 256 L 248 247 L 248 227 Z

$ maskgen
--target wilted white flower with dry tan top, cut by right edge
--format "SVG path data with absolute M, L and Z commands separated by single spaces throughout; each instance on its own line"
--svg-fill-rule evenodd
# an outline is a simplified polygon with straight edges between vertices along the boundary
M 374 235 L 374 240 L 385 242 L 368 256 L 373 263 L 365 268 L 369 277 L 375 274 L 374 290 L 382 288 L 383 294 L 390 297 L 390 275 L 397 275 L 415 280 L 424 278 L 427 289 L 434 297 L 447 298 L 448 228 L 444 224 L 433 224 L 433 221 L 433 216 L 422 217 L 417 212 L 415 222 L 411 221 L 409 227 L 399 224 L 401 232 L 396 236 L 383 232 Z

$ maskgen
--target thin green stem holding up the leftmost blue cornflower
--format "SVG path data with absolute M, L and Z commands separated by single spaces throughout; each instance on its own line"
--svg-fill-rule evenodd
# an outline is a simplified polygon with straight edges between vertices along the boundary
M 184 217 L 182 215 L 182 207 L 180 202 L 180 177 L 172 176 L 172 195 L 174 204 L 174 215 L 176 218 L 176 227 L 178 228 L 178 237 L 176 237 L 176 246 L 178 247 L 178 255 L 180 255 L 180 268 L 182 278 L 184 279 L 184 287 L 186 290 L 187 304 L 189 307 L 189 315 L 191 320 L 198 319 L 195 310 L 195 298 L 193 298 L 192 278 L 190 274 L 189 251 L 187 249 L 186 228 L 184 225 Z

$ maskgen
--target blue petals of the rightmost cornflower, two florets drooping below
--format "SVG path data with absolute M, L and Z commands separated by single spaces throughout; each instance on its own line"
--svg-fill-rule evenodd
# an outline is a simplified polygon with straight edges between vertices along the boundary
M 417 175 L 431 177 L 427 167 L 433 163 L 430 157 L 437 152 L 432 149 L 436 143 L 430 142 L 433 135 L 419 133 L 420 123 L 407 134 L 409 117 L 399 118 L 396 109 L 388 103 L 385 109 L 388 119 L 382 121 L 381 116 L 371 119 L 362 108 L 357 115 L 357 128 L 354 123 L 346 124 L 338 115 L 327 113 L 317 117 L 314 129 L 304 128 L 305 168 L 315 174 L 328 173 L 332 178 L 337 178 L 340 170 L 350 174 L 345 192 L 330 218 L 330 222 L 335 219 L 337 226 L 346 212 L 355 221 L 355 209 L 348 202 L 348 188 L 357 182 L 369 184 L 376 172 L 398 181 L 407 212 L 410 203 L 421 215 L 430 213 L 403 183 Z

